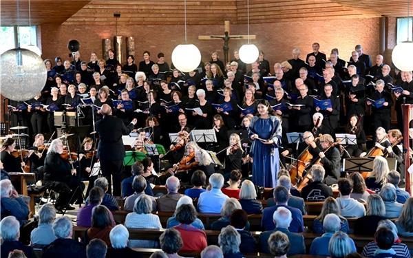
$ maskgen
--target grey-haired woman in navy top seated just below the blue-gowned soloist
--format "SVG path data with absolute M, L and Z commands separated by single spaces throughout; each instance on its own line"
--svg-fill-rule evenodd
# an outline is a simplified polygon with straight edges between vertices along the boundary
M 257 200 L 257 191 L 255 191 L 254 183 L 250 180 L 244 180 L 241 184 L 240 204 L 248 214 L 262 213 L 262 203 Z

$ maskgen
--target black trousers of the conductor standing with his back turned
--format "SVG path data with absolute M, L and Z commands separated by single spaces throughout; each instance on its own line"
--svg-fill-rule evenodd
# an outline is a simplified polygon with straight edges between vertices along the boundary
M 123 160 L 100 160 L 100 170 L 109 182 L 107 193 L 112 193 L 112 178 L 114 178 L 114 196 L 121 196 L 120 182 L 122 181 Z

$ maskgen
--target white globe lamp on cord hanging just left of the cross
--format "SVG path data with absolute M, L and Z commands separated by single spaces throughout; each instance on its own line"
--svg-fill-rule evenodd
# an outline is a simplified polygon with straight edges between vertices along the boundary
M 184 0 L 185 43 L 177 45 L 172 52 L 172 63 L 181 72 L 191 72 L 200 65 L 201 52 L 187 43 L 187 0 Z

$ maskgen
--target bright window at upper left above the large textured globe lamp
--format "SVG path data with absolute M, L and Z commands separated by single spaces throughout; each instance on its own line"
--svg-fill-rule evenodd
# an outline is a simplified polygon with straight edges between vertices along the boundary
M 14 27 L 0 27 L 0 53 L 14 48 Z M 35 45 L 37 46 L 36 26 L 21 26 L 19 27 L 20 45 Z

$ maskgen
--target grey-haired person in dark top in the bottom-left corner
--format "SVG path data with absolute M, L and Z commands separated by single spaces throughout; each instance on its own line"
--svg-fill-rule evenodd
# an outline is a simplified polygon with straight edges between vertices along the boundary
M 3 180 L 1 180 L 3 181 Z M 3 190 L 3 189 L 2 189 Z M 20 224 L 13 216 L 7 216 L 1 219 L 0 222 L 1 235 L 1 257 L 8 257 L 12 250 L 22 250 L 28 258 L 35 258 L 33 249 L 30 246 L 25 246 L 19 242 Z

